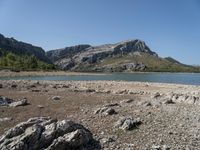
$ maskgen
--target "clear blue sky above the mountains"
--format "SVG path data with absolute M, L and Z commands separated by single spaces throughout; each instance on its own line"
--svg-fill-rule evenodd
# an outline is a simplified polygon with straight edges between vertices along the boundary
M 139 38 L 200 64 L 200 0 L 0 0 L 0 33 L 45 50 Z

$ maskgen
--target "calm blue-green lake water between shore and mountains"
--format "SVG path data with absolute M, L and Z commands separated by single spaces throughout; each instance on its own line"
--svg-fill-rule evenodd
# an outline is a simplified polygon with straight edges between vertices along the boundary
M 0 80 L 55 80 L 55 81 L 88 81 L 88 80 L 124 80 L 142 82 L 180 83 L 200 85 L 199 73 L 113 73 L 106 75 L 76 76 L 34 76 L 34 77 L 0 77 Z

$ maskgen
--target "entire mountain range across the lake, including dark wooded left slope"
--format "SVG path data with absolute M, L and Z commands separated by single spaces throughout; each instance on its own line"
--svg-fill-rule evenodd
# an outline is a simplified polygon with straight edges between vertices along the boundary
M 55 66 L 58 70 L 77 72 L 200 72 L 200 67 L 160 57 L 139 39 L 97 46 L 81 44 L 45 52 L 41 47 L 0 34 L 0 68 L 29 70 Z

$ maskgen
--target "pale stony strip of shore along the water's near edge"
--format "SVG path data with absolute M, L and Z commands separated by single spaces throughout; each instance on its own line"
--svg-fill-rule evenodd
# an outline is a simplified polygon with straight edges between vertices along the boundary
M 186 85 L 186 84 L 176 84 L 176 83 L 159 83 L 159 82 L 139 82 L 139 81 L 55 81 L 55 80 L 0 80 L 0 84 L 9 85 L 16 84 L 20 86 L 52 86 L 56 88 L 62 88 L 67 86 L 68 89 L 76 91 L 84 91 L 87 89 L 92 89 L 100 93 L 120 93 L 123 91 L 138 93 L 190 93 L 198 92 L 200 95 L 199 85 Z

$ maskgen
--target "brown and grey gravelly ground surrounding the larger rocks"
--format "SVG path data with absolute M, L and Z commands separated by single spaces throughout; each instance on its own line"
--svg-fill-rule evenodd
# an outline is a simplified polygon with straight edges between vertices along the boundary
M 1 96 L 15 100 L 26 97 L 29 102 L 27 106 L 0 107 L 0 118 L 12 118 L 0 122 L 0 135 L 31 117 L 51 116 L 83 124 L 102 149 L 200 149 L 199 86 L 115 81 L 10 80 L 0 84 Z M 195 101 L 177 98 L 174 103 L 165 103 L 172 93 L 195 96 Z M 60 100 L 52 100 L 53 96 L 60 96 Z M 117 114 L 94 114 L 112 103 L 119 104 L 112 107 Z M 118 130 L 114 125 L 123 116 L 139 117 L 142 124 L 131 131 Z

